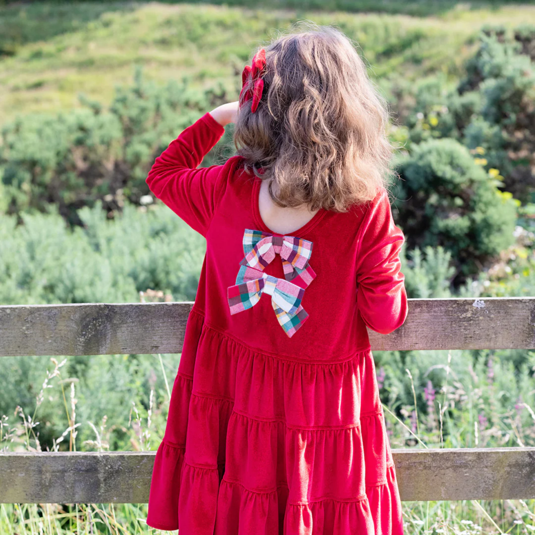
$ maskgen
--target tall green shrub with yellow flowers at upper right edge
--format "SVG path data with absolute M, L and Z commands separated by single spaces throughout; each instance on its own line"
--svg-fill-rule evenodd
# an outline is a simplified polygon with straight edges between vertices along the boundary
M 409 127 L 407 148 L 456 139 L 484 155 L 487 170 L 499 171 L 502 190 L 527 202 L 535 192 L 535 28 L 517 28 L 513 37 L 486 29 L 457 87 L 445 77 L 424 79 L 401 94 L 398 106 L 414 99 L 402 118 Z

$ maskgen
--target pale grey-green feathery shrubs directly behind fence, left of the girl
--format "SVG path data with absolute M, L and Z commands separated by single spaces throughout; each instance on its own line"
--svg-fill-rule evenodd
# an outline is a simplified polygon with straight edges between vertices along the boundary
M 193 301 L 205 250 L 200 234 L 189 228 L 161 203 L 135 207 L 126 203 L 123 213 L 109 220 L 100 202 L 79 212 L 83 227 L 70 228 L 58 213 L 0 215 L 0 304 L 139 302 L 140 291 L 153 289 L 171 294 L 175 301 Z M 178 357 L 165 357 L 169 381 Z M 45 357 L 9 357 L 3 360 L 4 388 L 0 415 L 21 406 L 33 415 L 36 396 L 45 378 Z M 160 366 L 154 356 L 115 355 L 70 357 L 64 379 L 76 378 L 77 439 L 95 439 L 87 424 L 97 428 L 108 417 L 111 449 L 132 449 L 128 427 L 132 401 L 145 414 L 150 389 L 155 407 L 166 398 Z M 65 385 L 68 398 L 70 385 Z M 51 447 L 68 427 L 63 396 L 58 387 L 48 392 L 37 410 L 43 449 Z M 165 413 L 153 411 L 157 444 L 165 427 Z M 153 424 L 154 425 L 154 424 Z M 154 431 L 154 428 L 153 428 Z M 62 448 L 68 447 L 68 440 Z

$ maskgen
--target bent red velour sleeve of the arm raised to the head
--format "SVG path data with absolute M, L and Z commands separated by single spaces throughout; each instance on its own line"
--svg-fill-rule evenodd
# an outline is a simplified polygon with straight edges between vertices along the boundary
M 225 166 L 196 167 L 224 132 L 210 113 L 204 114 L 171 141 L 146 179 L 151 192 L 203 236 L 226 185 Z

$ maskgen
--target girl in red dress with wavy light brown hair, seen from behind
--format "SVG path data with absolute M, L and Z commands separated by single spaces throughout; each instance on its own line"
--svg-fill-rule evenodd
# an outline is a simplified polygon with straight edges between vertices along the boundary
M 407 315 L 385 107 L 332 28 L 281 37 L 242 78 L 147 178 L 207 240 L 147 524 L 400 535 L 366 331 Z M 197 169 L 232 122 L 236 156 Z

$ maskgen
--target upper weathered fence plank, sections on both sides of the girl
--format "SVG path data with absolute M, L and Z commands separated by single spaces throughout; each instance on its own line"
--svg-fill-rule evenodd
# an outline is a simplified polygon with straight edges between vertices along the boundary
M 0 355 L 180 353 L 192 304 L 0 306 Z M 535 297 L 411 299 L 405 324 L 370 341 L 374 350 L 535 348 Z

